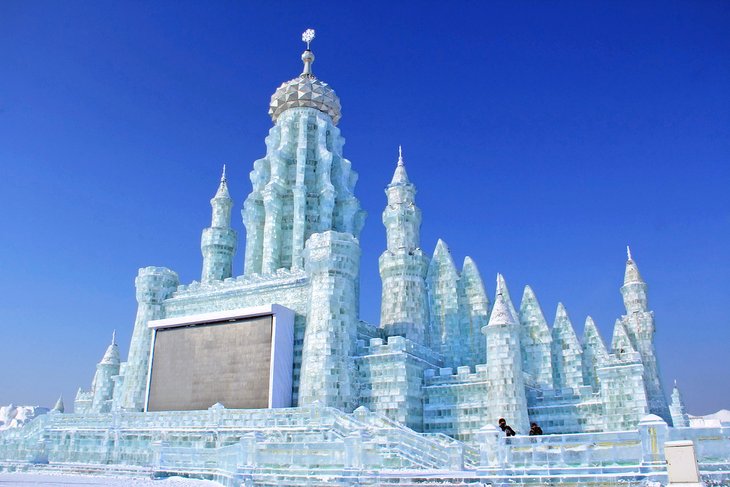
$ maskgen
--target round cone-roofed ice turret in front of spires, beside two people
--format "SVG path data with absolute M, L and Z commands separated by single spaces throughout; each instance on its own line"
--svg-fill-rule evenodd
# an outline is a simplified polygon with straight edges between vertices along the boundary
M 499 418 L 521 434 L 529 430 L 527 399 L 522 375 L 520 330 L 515 314 L 505 296 L 499 292 L 489 324 L 482 331 L 487 341 L 487 424 L 496 424 Z

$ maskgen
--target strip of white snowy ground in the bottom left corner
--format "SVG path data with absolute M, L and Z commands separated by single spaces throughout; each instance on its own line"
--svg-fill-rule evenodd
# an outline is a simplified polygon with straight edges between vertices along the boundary
M 40 485 L 45 487 L 65 487 L 67 485 L 107 486 L 107 487 L 221 487 L 210 480 L 192 480 L 170 477 L 164 480 L 134 479 L 128 477 L 97 477 L 89 475 L 50 475 L 33 473 L 2 473 L 0 486 Z

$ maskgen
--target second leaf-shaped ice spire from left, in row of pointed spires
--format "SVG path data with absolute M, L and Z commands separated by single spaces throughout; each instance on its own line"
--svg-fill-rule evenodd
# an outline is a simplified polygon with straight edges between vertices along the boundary
M 471 257 L 464 258 L 459 279 L 459 299 L 464 308 L 462 317 L 466 323 L 469 343 L 468 365 L 484 364 L 487 359 L 487 344 L 482 336 L 482 328 L 489 321 L 489 298 L 484 290 L 482 276 Z

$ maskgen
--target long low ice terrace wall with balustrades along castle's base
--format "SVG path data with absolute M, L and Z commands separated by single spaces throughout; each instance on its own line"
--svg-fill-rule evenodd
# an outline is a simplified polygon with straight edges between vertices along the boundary
M 370 468 L 610 473 L 648 464 L 661 470 L 663 442 L 688 439 L 703 472 L 730 470 L 728 427 L 668 428 L 654 417 L 632 431 L 504 438 L 488 426 L 480 431 L 477 450 L 443 434 L 416 433 L 366 408 L 346 414 L 319 404 L 83 418 L 48 414 L 0 434 L 0 462 L 154 465 L 163 472 L 222 472 L 230 478 L 241 469 L 274 476 L 292 469 L 340 475 Z

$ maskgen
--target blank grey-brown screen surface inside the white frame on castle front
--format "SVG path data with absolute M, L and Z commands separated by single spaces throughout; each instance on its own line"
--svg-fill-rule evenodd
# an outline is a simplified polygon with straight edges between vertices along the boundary
M 157 330 L 147 410 L 268 407 L 272 319 Z

